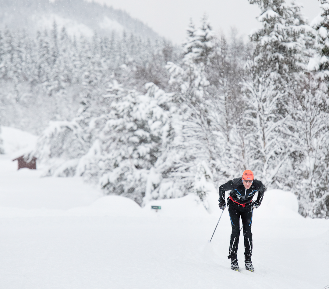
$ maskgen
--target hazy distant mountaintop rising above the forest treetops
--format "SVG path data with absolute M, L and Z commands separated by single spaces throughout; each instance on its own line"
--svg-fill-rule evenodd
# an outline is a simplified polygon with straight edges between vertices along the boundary
M 0 25 L 11 30 L 26 30 L 35 34 L 38 30 L 51 28 L 55 20 L 59 26 L 66 26 L 71 35 L 101 36 L 112 31 L 122 35 L 133 33 L 152 41 L 161 38 L 150 27 L 134 19 L 122 10 L 102 6 L 83 0 L 1 0 Z

